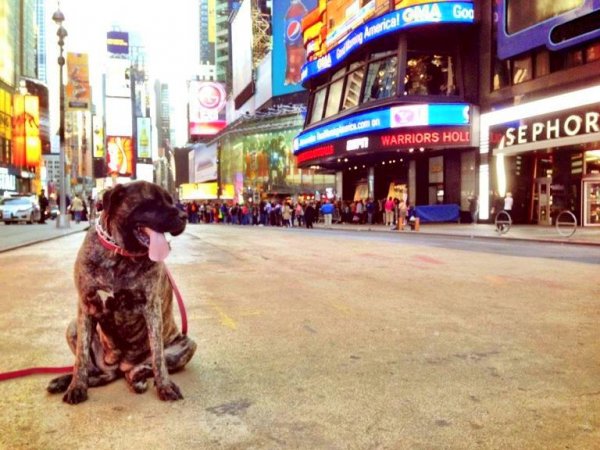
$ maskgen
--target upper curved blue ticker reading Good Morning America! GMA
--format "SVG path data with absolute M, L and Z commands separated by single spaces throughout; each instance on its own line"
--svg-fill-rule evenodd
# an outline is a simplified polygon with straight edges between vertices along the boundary
M 438 2 L 414 5 L 398 9 L 358 27 L 340 44 L 319 59 L 310 61 L 302 67 L 301 79 L 306 80 L 319 75 L 341 63 L 350 53 L 365 43 L 390 33 L 431 23 L 473 23 L 475 10 L 472 2 Z

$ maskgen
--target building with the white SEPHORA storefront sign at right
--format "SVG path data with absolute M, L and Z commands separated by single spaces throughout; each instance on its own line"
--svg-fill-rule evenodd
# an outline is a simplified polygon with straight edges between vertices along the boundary
M 481 1 L 482 219 L 600 226 L 600 4 Z M 559 220 L 569 218 L 563 215 Z

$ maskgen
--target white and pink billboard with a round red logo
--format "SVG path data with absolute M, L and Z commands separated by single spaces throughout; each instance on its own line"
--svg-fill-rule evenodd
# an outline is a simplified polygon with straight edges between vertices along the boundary
M 213 81 L 189 82 L 189 134 L 212 136 L 227 125 L 225 87 Z

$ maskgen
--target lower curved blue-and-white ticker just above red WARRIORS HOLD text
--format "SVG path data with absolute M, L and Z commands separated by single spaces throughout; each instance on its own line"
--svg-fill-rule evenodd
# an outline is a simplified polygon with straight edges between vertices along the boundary
M 345 117 L 305 130 L 294 139 L 294 154 L 327 141 L 356 134 L 414 126 L 470 124 L 471 107 L 465 103 L 398 105 Z

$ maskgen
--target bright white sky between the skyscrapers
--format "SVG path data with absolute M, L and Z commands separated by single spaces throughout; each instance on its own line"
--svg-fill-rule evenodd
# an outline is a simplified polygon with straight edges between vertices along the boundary
M 48 17 L 57 9 L 57 0 L 47 0 Z M 186 81 L 198 67 L 197 0 L 60 0 L 68 32 L 65 51 L 88 53 L 90 82 L 98 103 L 101 76 L 107 58 L 106 33 L 113 29 L 139 33 L 147 53 L 150 83 L 169 82 L 176 120 L 185 120 Z M 48 33 L 48 84 L 58 85 L 58 69 L 52 63 L 58 56 L 56 24 L 50 19 Z M 152 84 L 150 86 L 152 86 Z M 58 102 L 56 102 L 58 103 Z M 179 119 L 177 119 L 179 118 Z

